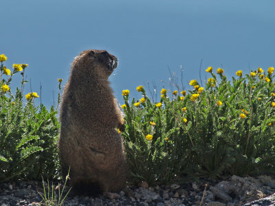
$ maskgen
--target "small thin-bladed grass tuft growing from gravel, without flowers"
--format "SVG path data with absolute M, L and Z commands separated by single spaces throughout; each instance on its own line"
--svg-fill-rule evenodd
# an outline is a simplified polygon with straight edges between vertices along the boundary
M 65 201 L 65 198 L 67 197 L 67 195 L 69 194 L 69 192 L 72 189 L 72 187 L 69 188 L 68 192 L 62 198 L 64 189 L 65 189 L 65 186 L 66 186 L 66 183 L 67 183 L 67 179 L 69 179 L 69 172 L 66 176 L 65 183 L 64 183 L 62 191 L 61 191 L 61 184 L 58 183 L 58 186 L 57 186 L 58 194 L 56 194 L 56 190 L 54 190 L 54 183 L 52 183 L 52 188 L 51 188 L 52 192 L 51 192 L 49 180 L 47 180 L 47 192 L 46 192 L 44 179 L 42 177 L 44 193 L 43 194 L 39 193 L 39 194 L 43 198 L 43 201 L 45 202 L 45 205 L 47 205 L 47 206 L 48 205 L 50 205 L 50 206 L 59 206 L 59 205 L 63 204 L 63 202 Z

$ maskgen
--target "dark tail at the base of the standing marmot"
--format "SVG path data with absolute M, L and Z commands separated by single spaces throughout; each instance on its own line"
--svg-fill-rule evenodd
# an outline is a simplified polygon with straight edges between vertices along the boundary
M 72 185 L 72 192 L 80 196 L 98 196 L 103 190 L 99 183 L 89 181 L 78 181 Z

